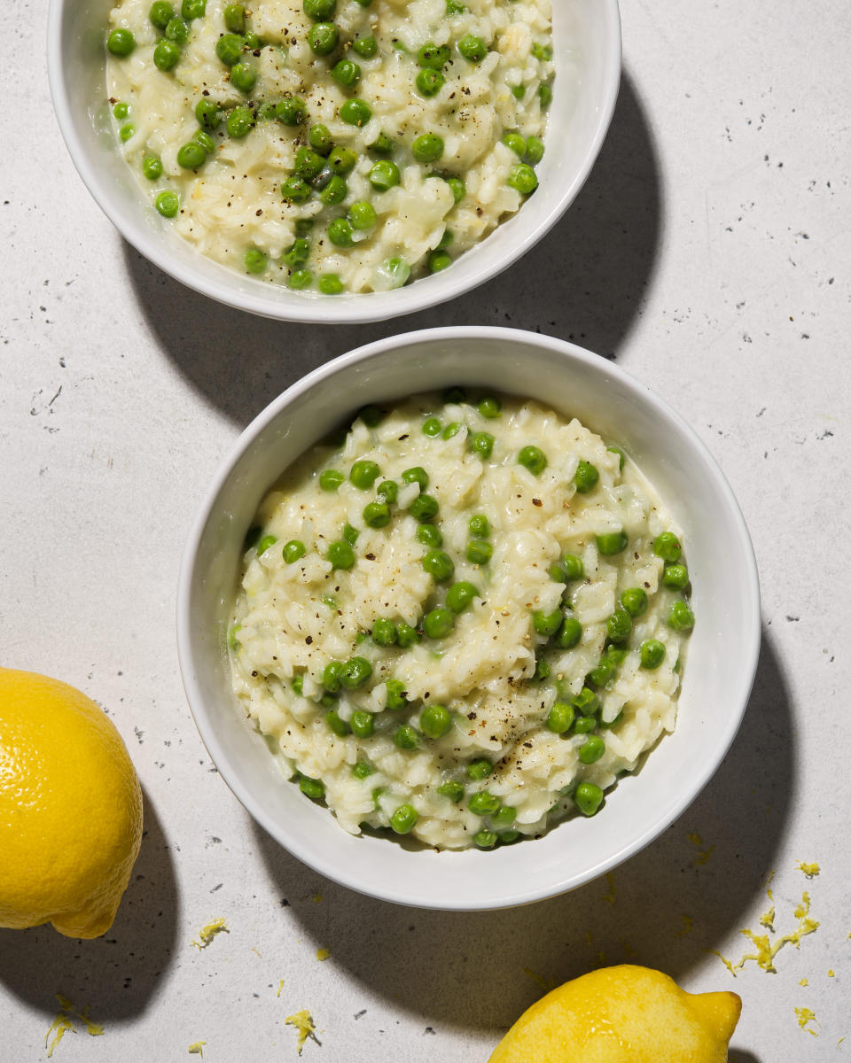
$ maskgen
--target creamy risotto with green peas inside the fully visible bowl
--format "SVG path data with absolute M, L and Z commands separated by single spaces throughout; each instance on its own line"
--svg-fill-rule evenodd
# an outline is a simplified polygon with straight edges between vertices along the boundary
M 368 407 L 261 504 L 233 688 L 346 830 L 489 849 L 598 814 L 672 730 L 689 589 L 652 487 L 578 420 Z

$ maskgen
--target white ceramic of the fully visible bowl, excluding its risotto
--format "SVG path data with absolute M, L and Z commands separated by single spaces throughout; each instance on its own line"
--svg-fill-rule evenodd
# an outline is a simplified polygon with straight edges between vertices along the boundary
M 411 850 L 352 838 L 284 780 L 230 690 L 226 632 L 243 539 L 286 466 L 367 403 L 453 384 L 530 395 L 624 446 L 681 523 L 697 624 L 679 721 L 593 820 L 520 845 Z M 422 908 L 519 905 L 573 889 L 636 853 L 698 794 L 732 742 L 760 649 L 756 566 L 741 513 L 705 446 L 664 402 L 610 362 L 546 336 L 439 328 L 381 340 L 317 369 L 237 440 L 191 529 L 178 593 L 186 694 L 219 772 L 248 811 L 304 863 L 362 893 Z

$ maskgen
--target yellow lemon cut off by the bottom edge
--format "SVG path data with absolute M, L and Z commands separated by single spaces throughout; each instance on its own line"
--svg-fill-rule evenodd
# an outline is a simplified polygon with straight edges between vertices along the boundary
M 741 1000 L 691 994 L 623 964 L 548 993 L 517 1019 L 490 1063 L 724 1063 Z

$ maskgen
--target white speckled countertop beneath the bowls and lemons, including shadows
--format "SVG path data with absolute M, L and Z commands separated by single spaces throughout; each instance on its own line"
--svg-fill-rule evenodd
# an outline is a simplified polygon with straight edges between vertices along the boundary
M 851 14 L 844 0 L 622 6 L 608 138 L 522 269 L 432 313 L 339 328 L 224 309 L 122 242 L 53 119 L 45 5 L 13 9 L 2 662 L 107 708 L 143 780 L 147 832 L 105 938 L 0 931 L 4 1063 L 45 1058 L 55 993 L 105 1031 L 73 1019 L 53 1057 L 68 1063 L 179 1060 L 200 1041 L 211 1063 L 295 1060 L 285 1018 L 302 1008 L 321 1042 L 305 1061 L 484 1063 L 543 985 L 624 959 L 740 993 L 736 1063 L 851 1052 Z M 764 594 L 745 723 L 695 805 L 607 881 L 490 914 L 371 901 L 279 848 L 210 763 L 174 649 L 183 542 L 239 429 L 332 356 L 445 323 L 575 339 L 651 384 L 730 478 Z M 807 879 L 800 861 L 820 873 Z M 760 925 L 771 875 L 773 935 Z M 779 942 L 804 891 L 818 930 L 778 952 L 775 974 L 748 961 L 734 979 L 715 950 L 754 951 L 742 928 Z M 218 917 L 229 932 L 194 948 Z

